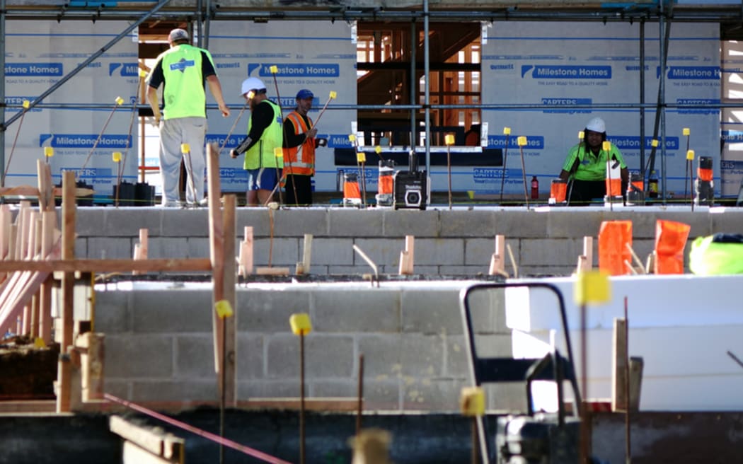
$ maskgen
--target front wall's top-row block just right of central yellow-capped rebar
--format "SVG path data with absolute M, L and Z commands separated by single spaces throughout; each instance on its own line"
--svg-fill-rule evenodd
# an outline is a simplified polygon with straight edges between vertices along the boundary
M 318 289 L 314 300 L 313 325 L 318 332 L 400 331 L 400 292 L 376 288 L 353 292 Z

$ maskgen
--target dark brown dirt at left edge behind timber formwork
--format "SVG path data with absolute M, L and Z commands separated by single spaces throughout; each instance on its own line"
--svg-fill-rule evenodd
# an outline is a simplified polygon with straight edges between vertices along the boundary
M 35 347 L 30 337 L 0 341 L 0 401 L 53 399 L 59 344 Z

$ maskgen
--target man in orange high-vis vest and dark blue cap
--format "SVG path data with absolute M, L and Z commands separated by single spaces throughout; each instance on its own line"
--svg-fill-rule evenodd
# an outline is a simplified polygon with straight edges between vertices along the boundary
M 296 94 L 296 108 L 284 120 L 284 174 L 288 206 L 312 204 L 312 176 L 315 174 L 315 148 L 325 145 L 317 139 L 317 128 L 308 113 L 314 94 L 303 88 Z

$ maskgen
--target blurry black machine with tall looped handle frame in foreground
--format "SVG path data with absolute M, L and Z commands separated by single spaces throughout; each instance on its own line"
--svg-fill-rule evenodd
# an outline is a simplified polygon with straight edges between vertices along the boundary
M 507 289 L 529 287 L 544 295 L 554 295 L 562 318 L 562 330 L 568 351 L 563 358 L 554 349 L 542 359 L 512 359 L 478 356 L 476 350 L 476 328 L 473 313 L 487 308 L 499 307 L 498 298 L 503 298 Z M 499 296 L 500 295 L 500 296 Z M 544 299 L 544 298 L 542 298 Z M 527 394 L 526 414 L 499 416 L 492 428 L 487 415 L 478 417 L 478 441 L 482 463 L 490 464 L 576 464 L 580 461 L 580 391 L 573 371 L 573 355 L 568 334 L 565 304 L 562 295 L 551 284 L 476 284 L 461 293 L 461 313 L 464 321 L 464 336 L 469 348 L 470 372 L 477 386 L 495 382 L 525 382 Z M 477 314 L 475 318 L 477 318 Z M 479 318 L 478 318 L 479 321 Z M 480 329 L 478 324 L 478 330 Z M 557 413 L 533 411 L 531 383 L 534 380 L 554 380 L 557 384 Z M 574 391 L 573 416 L 565 413 L 563 383 L 570 382 Z

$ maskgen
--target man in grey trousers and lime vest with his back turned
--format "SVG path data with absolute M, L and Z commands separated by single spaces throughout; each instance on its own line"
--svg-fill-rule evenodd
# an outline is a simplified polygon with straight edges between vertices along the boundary
M 204 138 L 207 135 L 207 95 L 204 82 L 219 105 L 223 117 L 230 116 L 211 54 L 189 45 L 186 30 L 173 29 L 168 36 L 169 50 L 160 53 L 148 76 L 147 99 L 160 128 L 160 177 L 163 182 L 162 206 L 180 207 L 181 160 L 186 164 L 186 204 L 205 205 Z M 162 112 L 158 88 L 163 86 Z M 183 144 L 189 150 L 183 153 Z

